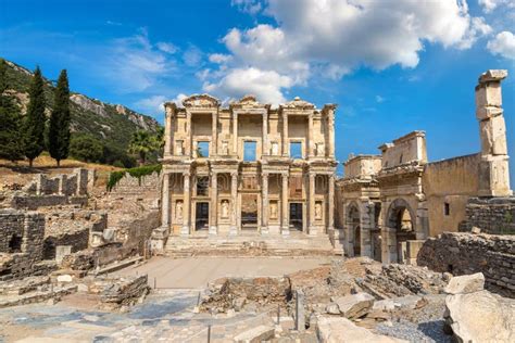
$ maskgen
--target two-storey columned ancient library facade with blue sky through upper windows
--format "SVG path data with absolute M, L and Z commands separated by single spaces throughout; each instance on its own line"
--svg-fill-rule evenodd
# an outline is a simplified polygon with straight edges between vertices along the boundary
M 332 230 L 336 105 L 296 98 L 272 109 L 249 96 L 222 107 L 208 94 L 183 104 L 165 104 L 154 239 Z

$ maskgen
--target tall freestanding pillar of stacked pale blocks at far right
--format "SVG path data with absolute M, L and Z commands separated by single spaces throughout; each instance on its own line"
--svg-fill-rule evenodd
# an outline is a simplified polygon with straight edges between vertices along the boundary
M 511 195 L 506 124 L 502 109 L 501 81 L 507 71 L 488 71 L 476 86 L 476 117 L 481 137 L 479 195 Z

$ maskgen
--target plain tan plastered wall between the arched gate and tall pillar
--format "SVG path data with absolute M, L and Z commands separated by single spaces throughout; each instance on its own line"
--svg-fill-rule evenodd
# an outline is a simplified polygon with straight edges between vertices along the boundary
M 423 174 L 423 191 L 429 212 L 429 234 L 456 231 L 465 219 L 470 196 L 479 192 L 480 155 L 460 156 L 428 163 Z

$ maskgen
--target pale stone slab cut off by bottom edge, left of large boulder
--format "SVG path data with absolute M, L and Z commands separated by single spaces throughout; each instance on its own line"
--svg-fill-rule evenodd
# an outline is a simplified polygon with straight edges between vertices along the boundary
M 342 317 L 318 317 L 316 335 L 322 343 L 401 343 L 404 340 L 375 334 Z

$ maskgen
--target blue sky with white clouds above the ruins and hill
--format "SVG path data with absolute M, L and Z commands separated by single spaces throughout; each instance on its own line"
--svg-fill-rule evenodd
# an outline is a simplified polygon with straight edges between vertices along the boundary
M 508 0 L 0 0 L 0 56 L 160 122 L 199 92 L 337 103 L 339 161 L 414 129 L 430 161 L 479 151 L 474 87 L 505 68 L 515 158 L 514 23 Z

